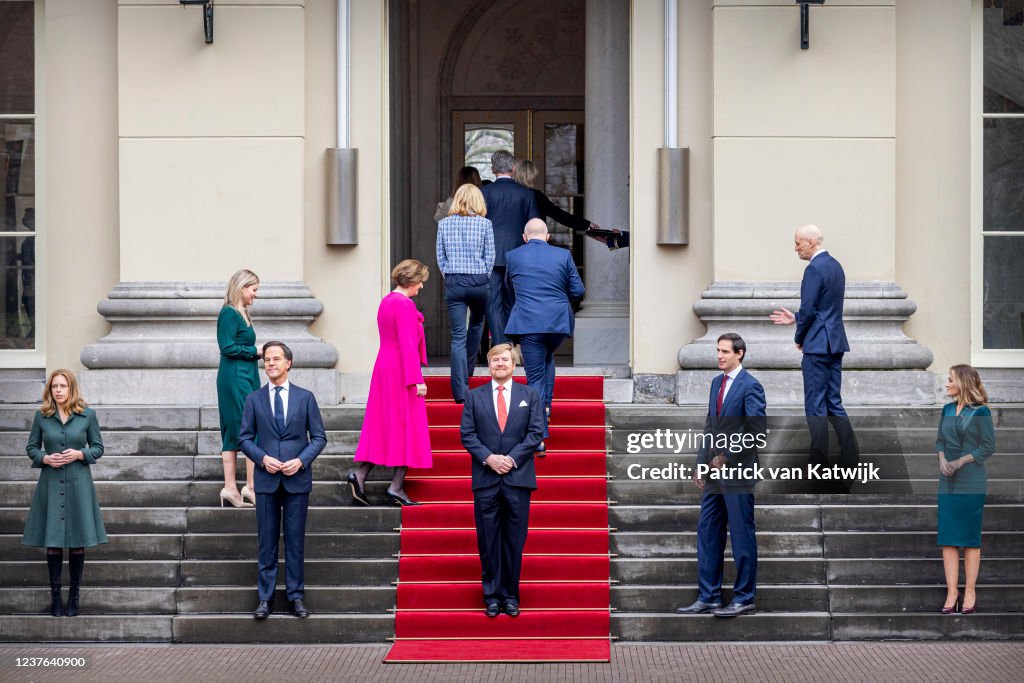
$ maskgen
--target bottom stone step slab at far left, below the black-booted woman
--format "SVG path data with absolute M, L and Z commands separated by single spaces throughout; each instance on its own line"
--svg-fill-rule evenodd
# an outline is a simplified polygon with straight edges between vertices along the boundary
M 0 641 L 16 643 L 168 643 L 170 614 L 0 615 Z M 252 621 L 252 617 L 250 617 Z

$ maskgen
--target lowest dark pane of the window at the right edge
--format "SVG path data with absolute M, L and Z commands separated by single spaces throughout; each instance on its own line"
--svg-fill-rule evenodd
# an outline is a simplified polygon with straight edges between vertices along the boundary
M 985 348 L 1024 349 L 1024 238 L 985 238 Z

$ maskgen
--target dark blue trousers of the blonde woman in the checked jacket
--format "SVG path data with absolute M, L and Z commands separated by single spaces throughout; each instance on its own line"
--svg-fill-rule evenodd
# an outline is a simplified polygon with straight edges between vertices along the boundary
M 466 400 L 469 378 L 476 370 L 476 352 L 483 336 L 483 318 L 490 298 L 489 278 L 453 272 L 444 276 L 444 302 L 452 326 L 452 396 Z M 469 311 L 469 327 L 466 311 Z

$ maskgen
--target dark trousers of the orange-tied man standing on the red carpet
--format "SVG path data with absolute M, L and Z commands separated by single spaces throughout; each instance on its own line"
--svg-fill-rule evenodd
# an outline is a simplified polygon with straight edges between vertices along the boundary
M 510 486 L 504 480 L 473 492 L 484 604 L 519 602 L 519 573 L 532 493 L 529 488 Z

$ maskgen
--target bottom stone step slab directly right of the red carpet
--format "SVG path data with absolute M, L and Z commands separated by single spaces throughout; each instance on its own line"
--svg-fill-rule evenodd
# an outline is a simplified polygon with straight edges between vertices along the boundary
M 784 634 L 784 635 L 783 635 Z M 623 641 L 714 642 L 828 640 L 827 612 L 758 612 L 738 618 L 711 614 L 612 612 L 611 635 Z

